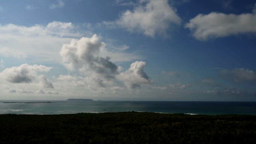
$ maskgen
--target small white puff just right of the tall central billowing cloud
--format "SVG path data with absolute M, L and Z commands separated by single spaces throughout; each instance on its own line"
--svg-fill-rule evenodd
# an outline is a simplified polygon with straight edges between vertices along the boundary
M 122 80 L 128 88 L 140 88 L 142 84 L 151 84 L 152 80 L 144 72 L 146 62 L 136 61 L 130 65 L 126 72 L 122 72 L 118 78 Z

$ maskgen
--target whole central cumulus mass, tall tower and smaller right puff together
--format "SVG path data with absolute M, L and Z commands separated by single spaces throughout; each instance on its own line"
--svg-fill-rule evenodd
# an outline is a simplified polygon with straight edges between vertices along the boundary
M 61 75 L 57 81 L 68 81 L 70 86 L 82 86 L 92 90 L 115 88 L 114 91 L 117 91 L 117 81 L 124 82 L 129 88 L 139 88 L 142 84 L 152 82 L 143 70 L 146 62 L 136 61 L 126 72 L 120 73 L 122 68 L 110 61 L 109 56 L 102 57 L 102 49 L 106 50 L 105 46 L 96 34 L 91 38 L 82 37 L 80 40 L 73 39 L 69 44 L 63 44 L 60 56 L 64 66 L 70 71 L 78 71 L 81 76 Z M 127 49 L 127 46 L 124 49 Z

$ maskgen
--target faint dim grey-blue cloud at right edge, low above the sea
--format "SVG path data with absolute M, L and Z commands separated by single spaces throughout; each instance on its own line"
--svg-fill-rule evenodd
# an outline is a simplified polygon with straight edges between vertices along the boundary
M 234 68 L 234 70 L 221 70 L 220 74 L 222 76 L 225 76 L 225 78 L 232 79 L 234 82 L 256 80 L 256 72 L 244 68 Z

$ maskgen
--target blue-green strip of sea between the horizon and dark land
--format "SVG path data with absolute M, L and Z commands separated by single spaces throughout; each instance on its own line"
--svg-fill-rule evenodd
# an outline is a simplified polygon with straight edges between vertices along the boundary
M 128 111 L 256 115 L 256 102 L 0 101 L 0 114 L 76 114 Z

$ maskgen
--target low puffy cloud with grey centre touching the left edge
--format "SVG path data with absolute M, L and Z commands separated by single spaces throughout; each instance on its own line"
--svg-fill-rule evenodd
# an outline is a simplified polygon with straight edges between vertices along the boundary
M 44 76 L 52 67 L 44 65 L 22 64 L 4 69 L 0 72 L 2 94 L 39 94 L 38 89 L 54 90 L 52 82 Z M 52 91 L 56 93 L 56 91 Z M 49 94 L 47 92 L 47 94 Z M 0 94 L 1 95 L 1 94 Z M 18 95 L 17 95 L 18 96 Z

